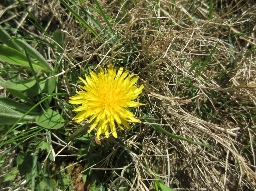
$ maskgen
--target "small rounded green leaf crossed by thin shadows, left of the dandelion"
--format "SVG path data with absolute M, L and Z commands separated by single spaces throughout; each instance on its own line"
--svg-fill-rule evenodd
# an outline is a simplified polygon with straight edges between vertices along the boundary
M 59 129 L 64 126 L 64 123 L 60 123 L 60 114 L 52 109 L 46 109 L 36 117 L 36 124 L 41 125 L 46 129 Z M 62 120 L 64 121 L 64 120 Z

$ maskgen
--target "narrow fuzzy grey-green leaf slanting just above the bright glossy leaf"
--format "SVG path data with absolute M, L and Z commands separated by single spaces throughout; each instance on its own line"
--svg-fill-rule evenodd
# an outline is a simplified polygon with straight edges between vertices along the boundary
M 40 54 L 36 49 L 31 47 L 28 43 L 21 39 L 14 39 L 13 41 L 15 41 L 21 48 L 25 47 L 29 55 L 34 57 L 38 61 L 38 63 L 45 68 L 45 71 L 51 72 L 53 70 L 52 66 L 44 59 L 42 54 Z

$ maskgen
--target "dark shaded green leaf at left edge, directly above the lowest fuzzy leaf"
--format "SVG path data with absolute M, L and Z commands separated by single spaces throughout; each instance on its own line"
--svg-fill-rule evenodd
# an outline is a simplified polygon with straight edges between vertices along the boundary
M 21 113 L 26 113 L 28 110 L 31 109 L 31 106 L 28 106 L 24 103 L 17 102 L 15 100 L 12 100 L 10 98 L 7 98 L 1 95 L 0 95 L 0 105 L 5 105 L 6 107 L 19 111 Z M 33 111 L 30 112 L 30 114 L 32 115 L 38 115 L 38 113 L 39 113 L 38 109 L 34 109 Z

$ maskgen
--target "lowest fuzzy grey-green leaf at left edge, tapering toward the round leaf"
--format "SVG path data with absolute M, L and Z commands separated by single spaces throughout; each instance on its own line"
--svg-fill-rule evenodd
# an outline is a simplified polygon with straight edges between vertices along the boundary
M 24 113 L 16 111 L 0 103 L 0 125 L 16 123 Z M 26 115 L 21 121 L 34 121 L 36 116 Z

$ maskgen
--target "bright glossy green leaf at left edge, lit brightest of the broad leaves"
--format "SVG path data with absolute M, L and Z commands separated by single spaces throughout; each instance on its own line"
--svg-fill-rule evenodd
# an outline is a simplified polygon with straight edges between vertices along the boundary
M 0 59 L 11 64 L 16 64 L 19 66 L 25 66 L 29 68 L 29 63 L 26 55 L 24 55 L 23 53 L 20 53 L 15 49 L 12 49 L 7 46 L 3 46 L 1 44 L 0 44 Z M 31 61 L 31 62 L 34 68 L 45 70 L 45 68 L 42 67 L 40 64 L 34 61 Z

